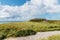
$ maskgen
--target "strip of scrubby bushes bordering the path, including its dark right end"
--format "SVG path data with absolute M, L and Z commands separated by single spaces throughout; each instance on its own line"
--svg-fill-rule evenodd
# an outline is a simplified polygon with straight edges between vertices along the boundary
M 8 37 L 23 37 L 29 35 L 35 35 L 36 32 L 33 30 L 17 30 L 15 28 L 3 29 L 0 31 L 0 40 L 3 40 Z

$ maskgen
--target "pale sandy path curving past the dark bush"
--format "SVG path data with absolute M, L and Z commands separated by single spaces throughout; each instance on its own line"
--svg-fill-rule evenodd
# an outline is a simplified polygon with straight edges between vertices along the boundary
M 50 32 L 38 32 L 36 35 L 18 38 L 7 38 L 5 40 L 41 40 L 42 38 L 47 38 L 55 34 L 60 34 L 60 31 L 50 31 Z

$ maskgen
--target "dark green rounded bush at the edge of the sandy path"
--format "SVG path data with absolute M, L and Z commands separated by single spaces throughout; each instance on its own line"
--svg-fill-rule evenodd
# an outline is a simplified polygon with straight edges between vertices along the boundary
M 36 32 L 33 30 L 20 30 L 17 32 L 17 37 L 19 36 L 29 36 L 29 35 L 35 35 Z

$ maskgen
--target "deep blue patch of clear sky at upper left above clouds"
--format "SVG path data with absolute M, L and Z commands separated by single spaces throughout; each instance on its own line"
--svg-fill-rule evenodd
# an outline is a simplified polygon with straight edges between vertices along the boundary
M 29 0 L 0 0 L 1 4 L 11 5 L 11 6 L 15 6 L 15 5 L 20 6 L 26 3 L 26 1 L 29 1 Z

